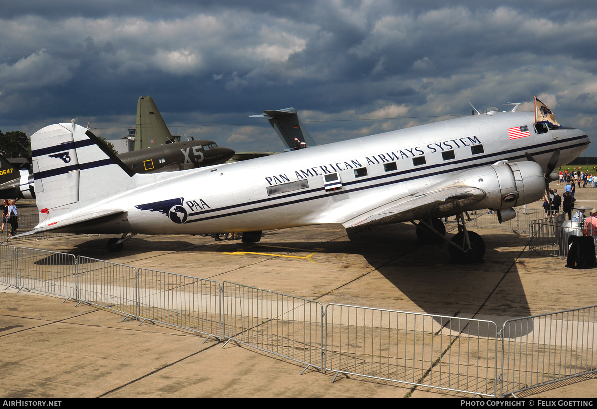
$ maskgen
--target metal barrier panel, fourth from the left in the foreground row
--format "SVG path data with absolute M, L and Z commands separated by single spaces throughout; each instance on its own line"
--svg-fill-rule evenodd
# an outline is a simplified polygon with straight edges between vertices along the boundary
M 220 283 L 139 269 L 139 316 L 221 339 Z

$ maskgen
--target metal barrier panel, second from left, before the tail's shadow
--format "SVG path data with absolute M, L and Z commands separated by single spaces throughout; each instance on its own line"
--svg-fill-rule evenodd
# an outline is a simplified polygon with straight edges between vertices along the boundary
M 17 247 L 17 287 L 77 298 L 72 254 Z

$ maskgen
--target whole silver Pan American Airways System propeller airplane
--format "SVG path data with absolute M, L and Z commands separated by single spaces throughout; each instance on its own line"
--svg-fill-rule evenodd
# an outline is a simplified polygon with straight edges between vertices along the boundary
M 109 250 L 120 251 L 137 233 L 242 231 L 243 241 L 254 242 L 275 228 L 418 221 L 419 238 L 439 235 L 455 261 L 476 262 L 485 244 L 466 230 L 463 212 L 493 209 L 500 221 L 514 218 L 513 207 L 540 199 L 553 169 L 589 144 L 583 131 L 537 123 L 516 107 L 154 174 L 134 174 L 74 121 L 50 125 L 31 137 L 41 214 L 24 234 L 122 234 L 108 241 Z M 448 239 L 439 218 L 454 215 L 458 233 Z

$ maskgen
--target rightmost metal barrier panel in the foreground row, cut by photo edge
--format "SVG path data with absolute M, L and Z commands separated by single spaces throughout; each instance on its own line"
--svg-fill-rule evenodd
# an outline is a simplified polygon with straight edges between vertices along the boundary
M 597 305 L 509 320 L 501 396 L 597 371 Z

